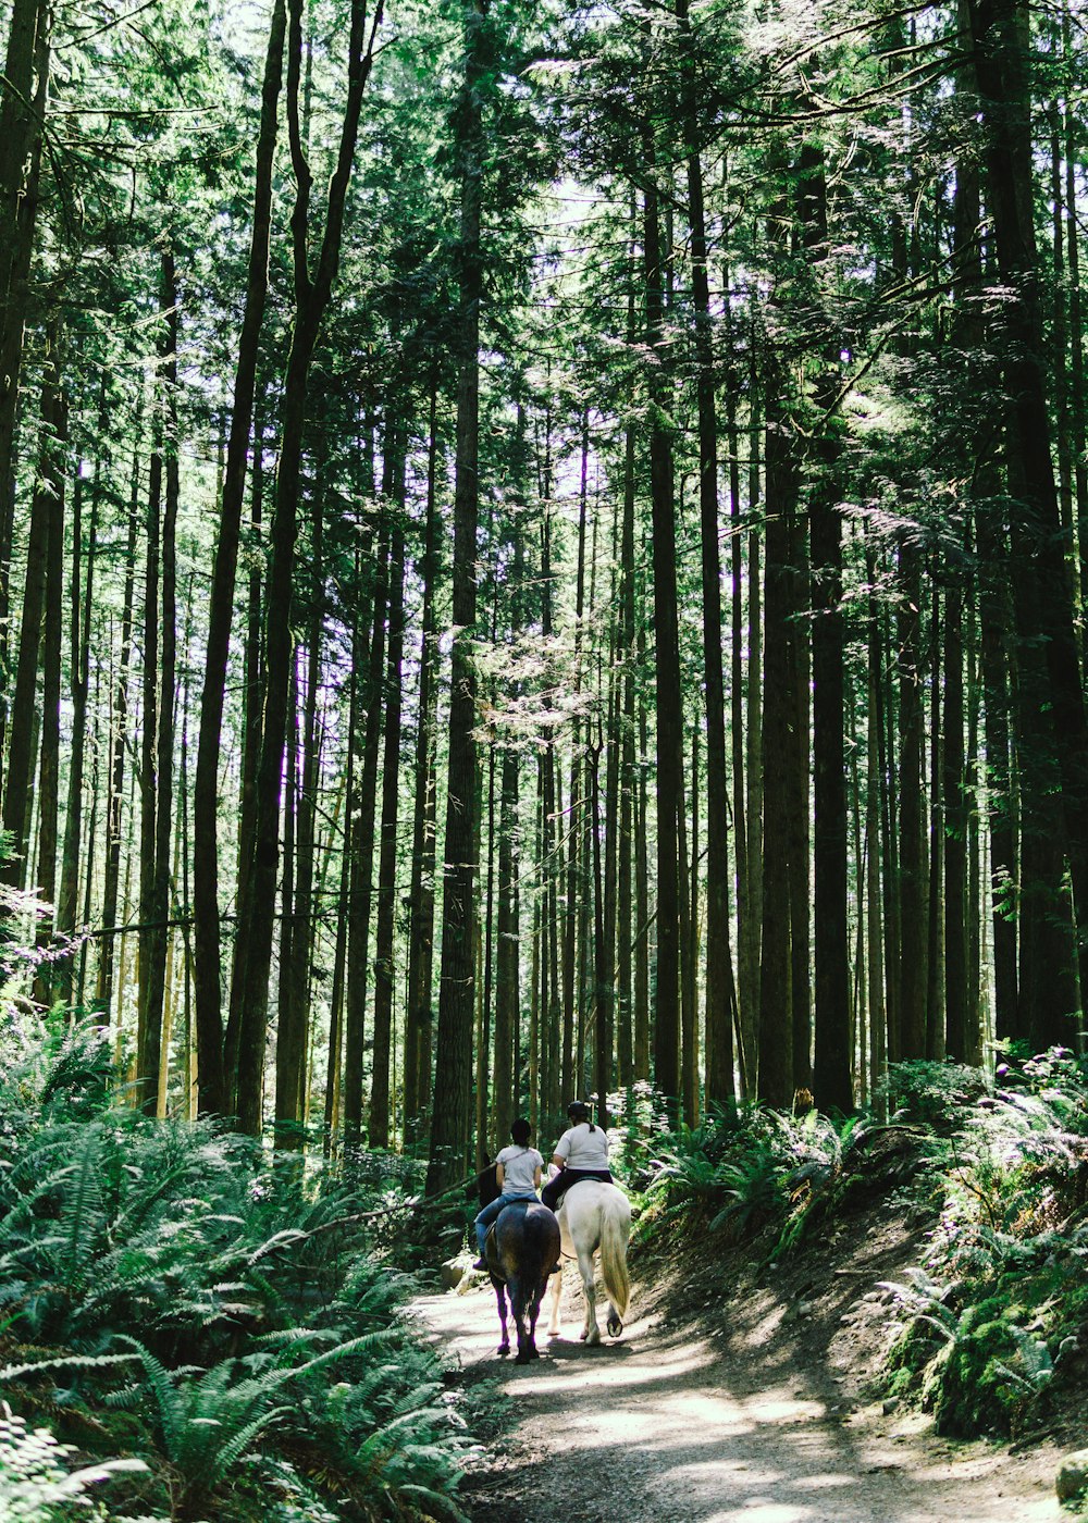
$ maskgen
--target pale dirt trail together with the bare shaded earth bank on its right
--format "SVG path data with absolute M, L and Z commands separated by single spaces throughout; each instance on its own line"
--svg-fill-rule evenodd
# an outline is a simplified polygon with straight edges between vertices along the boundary
M 878 1282 L 923 1249 L 907 1221 L 885 1205 L 762 1272 L 741 1253 L 699 1261 L 689 1247 L 655 1264 L 643 1249 L 629 1322 L 600 1348 L 579 1342 L 581 1285 L 567 1266 L 562 1336 L 544 1331 L 546 1301 L 542 1357 L 521 1368 L 495 1355 L 489 1285 L 419 1298 L 451 1380 L 482 1392 L 494 1381 L 509 1398 L 463 1485 L 474 1523 L 1064 1517 L 1054 1476 L 1079 1445 L 951 1442 L 920 1413 L 873 1398 L 891 1336 Z

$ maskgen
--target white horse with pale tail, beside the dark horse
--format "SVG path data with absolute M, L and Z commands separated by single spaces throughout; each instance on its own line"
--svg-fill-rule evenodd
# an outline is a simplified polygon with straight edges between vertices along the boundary
M 611 1337 L 619 1337 L 623 1331 L 623 1317 L 628 1314 L 631 1301 L 631 1281 L 628 1278 L 631 1202 L 616 1185 L 606 1185 L 600 1179 L 581 1179 L 562 1197 L 558 1218 L 562 1252 L 567 1258 L 578 1255 L 578 1269 L 582 1276 L 582 1292 L 585 1295 L 585 1327 L 582 1328 L 582 1337 L 587 1343 L 600 1342 L 593 1264 L 593 1255 L 597 1249 L 600 1249 L 600 1270 L 610 1302 L 608 1333 Z M 553 1275 L 552 1319 L 549 1322 L 550 1337 L 558 1337 L 559 1334 L 561 1292 L 562 1275 Z

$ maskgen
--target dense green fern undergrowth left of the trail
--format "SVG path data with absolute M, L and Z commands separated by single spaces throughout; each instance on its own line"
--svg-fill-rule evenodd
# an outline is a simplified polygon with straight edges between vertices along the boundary
M 8 1016 L 0 1074 L 0 1515 L 460 1517 L 465 1422 L 367 1220 L 410 1180 L 149 1121 L 94 1027 Z

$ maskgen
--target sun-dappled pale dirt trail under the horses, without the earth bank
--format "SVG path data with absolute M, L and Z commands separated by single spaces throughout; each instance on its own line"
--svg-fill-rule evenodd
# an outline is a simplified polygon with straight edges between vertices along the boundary
M 913 1413 L 852 1409 L 759 1320 L 722 1352 L 715 1331 L 638 1316 L 620 1342 L 578 1340 L 567 1272 L 564 1336 L 538 1363 L 495 1357 L 489 1288 L 416 1302 L 434 1342 L 515 1404 L 469 1477 L 478 1523 L 1056 1523 L 1053 1450 L 1010 1456 L 948 1444 Z M 637 1296 L 635 1287 L 635 1296 Z M 541 1316 L 541 1331 L 546 1316 Z M 768 1331 L 766 1328 L 763 1330 Z M 823 1387 L 823 1389 L 814 1389 Z

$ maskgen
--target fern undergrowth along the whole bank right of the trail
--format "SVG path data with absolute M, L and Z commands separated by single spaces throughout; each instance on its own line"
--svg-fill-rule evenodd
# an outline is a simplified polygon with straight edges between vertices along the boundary
M 1010 1058 L 992 1089 L 975 1069 L 899 1063 L 875 1113 L 712 1115 L 658 1139 L 638 1232 L 683 1224 L 774 1263 L 876 1200 L 933 1223 L 925 1261 L 884 1287 L 899 1328 L 885 1392 L 949 1436 L 1045 1424 L 1088 1377 L 1083 1062 Z

